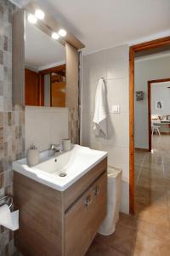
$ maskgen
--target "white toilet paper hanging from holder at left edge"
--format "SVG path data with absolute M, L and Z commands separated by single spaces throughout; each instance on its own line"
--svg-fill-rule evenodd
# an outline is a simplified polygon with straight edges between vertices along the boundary
M 8 205 L 0 207 L 0 225 L 9 230 L 19 229 L 19 210 L 10 212 Z

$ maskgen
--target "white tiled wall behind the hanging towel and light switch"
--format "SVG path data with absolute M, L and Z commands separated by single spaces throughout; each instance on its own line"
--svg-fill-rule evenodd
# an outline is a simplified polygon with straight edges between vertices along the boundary
M 98 79 L 106 81 L 109 136 L 95 137 L 94 97 Z M 83 56 L 82 145 L 108 152 L 108 164 L 122 168 L 122 212 L 129 212 L 129 86 L 128 46 L 105 49 Z M 111 113 L 119 104 L 121 113 Z

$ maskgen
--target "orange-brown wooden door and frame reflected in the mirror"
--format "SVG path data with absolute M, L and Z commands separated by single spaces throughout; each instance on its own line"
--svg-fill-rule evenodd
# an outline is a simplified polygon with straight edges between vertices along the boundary
M 27 106 L 65 108 L 65 65 L 39 72 L 25 68 L 25 102 Z

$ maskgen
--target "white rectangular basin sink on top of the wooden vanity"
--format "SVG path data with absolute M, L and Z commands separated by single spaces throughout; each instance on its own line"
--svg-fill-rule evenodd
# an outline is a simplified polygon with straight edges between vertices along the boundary
M 53 189 L 64 191 L 107 156 L 104 151 L 79 145 L 74 145 L 69 152 L 48 159 L 47 154 L 48 151 L 42 153 L 40 163 L 33 167 L 27 166 L 26 158 L 16 160 L 13 170 Z

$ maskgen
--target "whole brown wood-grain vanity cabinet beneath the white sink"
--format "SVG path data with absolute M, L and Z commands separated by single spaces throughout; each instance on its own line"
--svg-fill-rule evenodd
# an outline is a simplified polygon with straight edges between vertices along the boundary
M 24 256 L 83 256 L 106 215 L 107 159 L 61 192 L 14 172 L 20 209 L 15 246 Z

